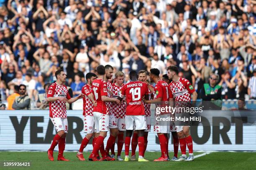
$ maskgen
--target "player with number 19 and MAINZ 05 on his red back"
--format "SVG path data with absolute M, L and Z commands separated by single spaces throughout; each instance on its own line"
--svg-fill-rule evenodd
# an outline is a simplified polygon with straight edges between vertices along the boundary
M 118 97 L 120 101 L 126 96 L 126 115 L 125 115 L 125 128 L 126 128 L 126 138 L 125 138 L 125 159 L 124 161 L 129 161 L 129 149 L 131 143 L 131 136 L 134 129 L 134 123 L 138 131 L 138 146 L 139 146 L 139 158 L 138 162 L 148 162 L 144 158 L 144 130 L 146 129 L 146 117 L 144 105 L 142 102 L 142 97 L 148 100 L 148 86 L 146 83 L 138 81 L 138 74 L 136 71 L 132 70 L 129 73 L 131 82 L 125 84 L 121 93 Z

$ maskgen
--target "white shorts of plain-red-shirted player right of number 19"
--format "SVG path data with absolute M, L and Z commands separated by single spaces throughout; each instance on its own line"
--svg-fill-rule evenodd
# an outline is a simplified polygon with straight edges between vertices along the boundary
M 160 118 L 168 118 L 170 114 L 157 115 Z M 154 133 L 170 133 L 170 121 L 157 121 L 155 116 Z

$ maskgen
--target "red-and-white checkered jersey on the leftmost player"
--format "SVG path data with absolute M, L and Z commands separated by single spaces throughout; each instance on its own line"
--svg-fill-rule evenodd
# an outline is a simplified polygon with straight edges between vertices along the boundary
M 57 85 L 53 83 L 50 85 L 47 97 L 66 97 L 68 100 L 71 98 L 65 85 Z M 49 102 L 50 117 L 60 117 L 67 118 L 66 102 L 61 100 L 56 100 L 54 102 Z

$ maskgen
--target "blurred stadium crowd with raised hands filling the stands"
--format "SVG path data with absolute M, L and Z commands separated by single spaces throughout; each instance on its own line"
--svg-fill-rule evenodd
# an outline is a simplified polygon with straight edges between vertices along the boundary
M 198 93 L 215 73 L 222 99 L 256 99 L 255 17 L 255 0 L 2 0 L 0 99 L 12 105 L 23 84 L 40 108 L 59 68 L 76 96 L 107 64 L 125 82 L 177 65 Z

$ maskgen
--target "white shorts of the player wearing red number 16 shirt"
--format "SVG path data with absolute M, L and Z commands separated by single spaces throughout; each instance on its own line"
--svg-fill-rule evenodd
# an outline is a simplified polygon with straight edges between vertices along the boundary
M 95 120 L 96 133 L 108 132 L 109 130 L 109 115 L 100 112 L 92 112 Z

